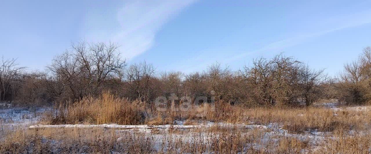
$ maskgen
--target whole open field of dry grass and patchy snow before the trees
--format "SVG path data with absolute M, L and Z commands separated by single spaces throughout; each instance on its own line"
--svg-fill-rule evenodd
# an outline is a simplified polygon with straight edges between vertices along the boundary
M 60 109 L 1 109 L 0 153 L 371 153 L 371 107 L 337 107 L 336 102 L 282 109 L 219 104 L 214 112 L 202 106 L 177 115 L 144 112 L 149 109 L 134 105 L 130 111 L 135 112 L 128 113 L 114 105 L 125 100 L 109 95 L 103 99 L 99 109 L 88 104 L 96 115 L 69 106 L 63 121 Z M 146 115 L 125 121 L 116 112 Z M 72 116 L 79 120 L 68 120 Z

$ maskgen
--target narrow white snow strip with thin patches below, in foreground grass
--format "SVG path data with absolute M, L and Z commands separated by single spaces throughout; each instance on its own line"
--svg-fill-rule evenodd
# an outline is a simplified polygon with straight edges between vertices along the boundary
M 29 128 L 115 128 L 116 134 L 121 134 L 117 138 L 117 141 L 124 140 L 128 138 L 128 135 L 135 137 L 135 134 L 142 133 L 142 137 L 150 138 L 153 142 L 153 148 L 159 150 L 159 148 L 164 147 L 163 141 L 176 140 L 183 143 L 191 144 L 194 141 L 202 141 L 203 144 L 208 144 L 213 138 L 218 137 L 219 134 L 210 133 L 206 131 L 211 127 L 219 127 L 234 130 L 246 130 L 242 131 L 240 135 L 242 137 L 247 137 L 256 133 L 256 131 L 262 132 L 259 141 L 255 143 L 250 143 L 244 145 L 244 148 L 254 148 L 256 150 L 261 149 L 267 144 L 272 144 L 272 141 L 279 141 L 280 137 L 293 137 L 300 141 L 310 141 L 310 144 L 316 145 L 318 142 L 324 140 L 324 132 L 319 132 L 317 130 L 307 131 L 304 134 L 291 134 L 287 130 L 282 129 L 282 125 L 277 123 L 271 123 L 269 125 L 256 125 L 256 124 L 230 124 L 223 122 L 210 122 L 206 121 L 198 125 L 184 125 L 184 121 L 175 121 L 176 125 L 117 125 L 117 124 L 102 124 L 102 125 L 32 125 Z M 154 130 L 157 130 L 154 132 Z M 171 130 L 180 130 L 187 133 L 170 133 Z M 162 133 L 158 133 L 162 132 Z M 168 141 L 167 141 L 168 142 Z M 275 143 L 275 144 L 277 144 Z M 165 146 L 167 147 L 167 146 Z M 309 151 L 303 151 L 303 153 L 308 153 Z

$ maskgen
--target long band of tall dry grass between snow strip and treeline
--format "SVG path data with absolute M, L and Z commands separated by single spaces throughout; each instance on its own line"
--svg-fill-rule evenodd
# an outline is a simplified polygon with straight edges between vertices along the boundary
M 214 109 L 212 109 L 214 108 Z M 200 121 L 269 125 L 278 123 L 289 132 L 303 133 L 367 130 L 371 128 L 371 112 L 333 110 L 329 108 L 245 108 L 218 101 L 215 106 L 192 106 L 188 111 L 157 111 L 140 101 L 128 101 L 105 93 L 98 98 L 60 106 L 56 115 L 45 117 L 49 124 L 174 124 L 174 120 L 197 124 Z

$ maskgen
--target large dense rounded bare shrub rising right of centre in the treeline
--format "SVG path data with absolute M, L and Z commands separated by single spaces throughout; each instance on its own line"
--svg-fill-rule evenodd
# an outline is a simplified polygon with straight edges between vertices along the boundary
M 307 106 L 321 96 L 323 70 L 315 71 L 282 53 L 272 59 L 254 59 L 253 66 L 241 71 L 250 106 L 287 106 L 305 102 Z

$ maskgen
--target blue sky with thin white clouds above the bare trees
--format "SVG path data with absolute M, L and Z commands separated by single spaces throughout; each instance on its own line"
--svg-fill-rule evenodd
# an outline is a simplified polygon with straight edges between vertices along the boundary
M 335 75 L 371 45 L 371 1 L 2 1 L 0 55 L 44 69 L 71 42 L 116 42 L 129 63 L 237 70 L 286 56 Z

